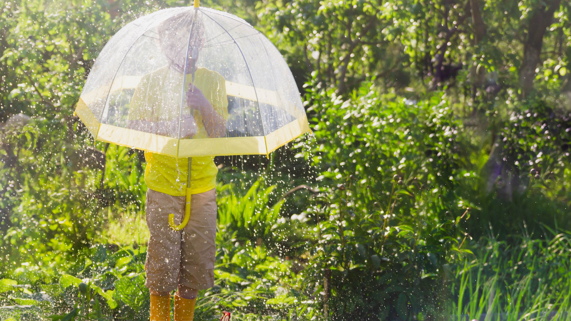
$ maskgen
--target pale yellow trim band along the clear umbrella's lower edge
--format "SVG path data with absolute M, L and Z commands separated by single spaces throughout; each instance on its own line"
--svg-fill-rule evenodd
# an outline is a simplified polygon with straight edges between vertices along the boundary
M 303 115 L 266 136 L 176 139 L 100 123 L 81 98 L 75 114 L 97 141 L 174 157 L 267 155 L 309 131 Z

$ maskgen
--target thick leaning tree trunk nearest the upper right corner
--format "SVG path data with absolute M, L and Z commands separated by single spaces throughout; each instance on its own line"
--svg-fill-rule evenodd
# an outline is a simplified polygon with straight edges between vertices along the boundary
M 528 38 L 524 43 L 524 59 L 520 69 L 522 95 L 528 97 L 533 89 L 537 65 L 541 63 L 541 46 L 547 28 L 553 21 L 553 13 L 559 8 L 561 0 L 541 2 L 544 5 L 533 9 L 529 18 Z

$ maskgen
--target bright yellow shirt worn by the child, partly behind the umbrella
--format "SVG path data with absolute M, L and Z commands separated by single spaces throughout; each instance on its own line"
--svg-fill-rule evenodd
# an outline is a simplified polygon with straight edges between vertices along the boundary
M 224 77 L 216 71 L 202 67 L 196 69 L 194 77 L 194 85 L 202 91 L 212 107 L 227 119 L 228 99 Z M 168 67 L 145 75 L 131 99 L 128 118 L 152 122 L 178 119 L 181 94 L 188 91 L 191 82 L 192 75 L 187 74 L 182 91 L 183 75 Z M 198 126 L 193 139 L 208 138 L 199 111 L 184 105 L 182 113 L 192 113 Z M 175 158 L 148 151 L 144 155 L 147 161 L 144 180 L 148 188 L 172 196 L 186 195 L 187 158 Z M 214 164 L 214 157 L 193 157 L 191 166 L 191 194 L 206 192 L 216 187 L 218 168 Z

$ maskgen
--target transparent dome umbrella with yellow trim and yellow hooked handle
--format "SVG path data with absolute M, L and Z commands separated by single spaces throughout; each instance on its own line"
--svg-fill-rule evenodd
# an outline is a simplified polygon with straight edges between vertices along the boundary
M 188 158 L 268 155 L 309 131 L 293 75 L 246 21 L 198 6 L 156 11 L 110 39 L 75 113 L 103 142 Z

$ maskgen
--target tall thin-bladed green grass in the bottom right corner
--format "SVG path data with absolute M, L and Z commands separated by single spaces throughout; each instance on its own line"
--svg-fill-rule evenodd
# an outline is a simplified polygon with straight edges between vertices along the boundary
M 456 271 L 450 320 L 571 320 L 571 234 L 547 234 L 480 244 Z

